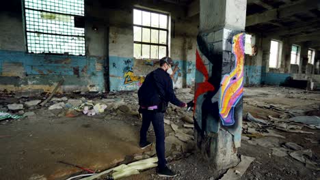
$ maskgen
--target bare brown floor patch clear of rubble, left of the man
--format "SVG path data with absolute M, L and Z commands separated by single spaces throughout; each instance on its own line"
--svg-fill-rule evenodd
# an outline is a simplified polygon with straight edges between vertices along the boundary
M 50 112 L 49 112 L 50 113 Z M 139 127 L 124 121 L 91 117 L 36 116 L 0 125 L 1 179 L 28 179 L 44 175 L 59 179 L 78 172 L 58 161 L 101 170 L 141 153 Z

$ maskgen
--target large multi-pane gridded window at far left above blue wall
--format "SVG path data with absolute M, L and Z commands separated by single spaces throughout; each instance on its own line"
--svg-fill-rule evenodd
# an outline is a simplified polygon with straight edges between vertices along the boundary
M 23 0 L 27 52 L 85 55 L 84 0 Z

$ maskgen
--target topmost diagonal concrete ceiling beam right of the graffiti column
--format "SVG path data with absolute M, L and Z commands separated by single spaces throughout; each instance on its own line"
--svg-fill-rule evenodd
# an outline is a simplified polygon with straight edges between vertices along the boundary
M 271 20 L 286 18 L 293 16 L 299 12 L 306 12 L 317 8 L 317 1 L 302 1 L 279 7 L 278 9 L 267 10 L 263 13 L 252 14 L 247 16 L 245 26 L 258 25 L 260 23 L 267 23 Z

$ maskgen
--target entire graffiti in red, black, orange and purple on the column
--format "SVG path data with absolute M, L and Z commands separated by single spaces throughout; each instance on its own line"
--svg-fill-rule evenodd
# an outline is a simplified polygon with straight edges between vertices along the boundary
M 196 91 L 194 118 L 202 132 L 232 126 L 239 118 L 238 102 L 243 96 L 243 62 L 245 33 L 233 32 L 227 37 L 230 46 L 222 51 L 198 35 L 196 50 Z M 219 45 L 217 45 L 219 46 Z M 233 127 L 232 127 L 233 128 Z

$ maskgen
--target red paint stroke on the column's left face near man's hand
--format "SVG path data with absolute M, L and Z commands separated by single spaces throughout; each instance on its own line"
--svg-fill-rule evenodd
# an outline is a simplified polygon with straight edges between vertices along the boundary
M 208 91 L 214 91 L 215 87 L 211 85 L 209 80 L 209 73 L 206 70 L 206 66 L 204 65 L 202 58 L 199 55 L 198 49 L 196 50 L 196 69 L 201 72 L 204 76 L 204 82 L 199 82 L 196 84 L 196 93 L 194 94 L 194 113 L 196 112 L 196 104 L 199 95 L 206 93 Z

